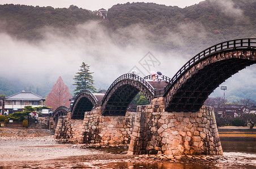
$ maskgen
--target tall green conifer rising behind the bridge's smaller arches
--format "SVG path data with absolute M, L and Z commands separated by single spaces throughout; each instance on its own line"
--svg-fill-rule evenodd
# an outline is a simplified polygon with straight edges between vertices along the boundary
M 79 94 L 80 90 L 87 89 L 92 92 L 96 92 L 96 88 L 93 86 L 93 72 L 89 72 L 89 65 L 85 64 L 84 62 L 80 66 L 80 72 L 76 72 L 75 83 L 73 85 L 76 86 L 74 92 L 75 95 Z

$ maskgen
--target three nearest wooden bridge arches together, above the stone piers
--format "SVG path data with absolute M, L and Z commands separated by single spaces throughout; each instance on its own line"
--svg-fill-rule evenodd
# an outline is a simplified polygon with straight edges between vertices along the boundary
M 256 63 L 256 39 L 235 39 L 218 43 L 200 52 L 173 76 L 139 77 L 123 74 L 108 88 L 93 94 L 82 90 L 71 108 L 72 119 L 83 119 L 84 112 L 101 106 L 103 115 L 125 115 L 133 98 L 141 91 L 149 101 L 164 97 L 167 112 L 197 112 L 208 95 L 239 70 Z

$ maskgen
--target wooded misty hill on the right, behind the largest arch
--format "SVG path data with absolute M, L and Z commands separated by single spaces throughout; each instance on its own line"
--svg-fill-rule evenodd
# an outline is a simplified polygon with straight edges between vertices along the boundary
M 114 30 L 140 24 L 151 32 L 147 38 L 162 50 L 179 49 L 177 37 L 193 48 L 208 47 L 216 41 L 256 37 L 256 1 L 232 2 L 203 1 L 185 8 L 155 3 L 114 5 L 108 10 L 109 24 Z

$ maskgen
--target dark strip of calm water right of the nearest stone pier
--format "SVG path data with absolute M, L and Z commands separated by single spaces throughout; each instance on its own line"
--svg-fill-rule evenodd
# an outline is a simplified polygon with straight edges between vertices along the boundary
M 221 141 L 223 152 L 256 154 L 256 141 Z

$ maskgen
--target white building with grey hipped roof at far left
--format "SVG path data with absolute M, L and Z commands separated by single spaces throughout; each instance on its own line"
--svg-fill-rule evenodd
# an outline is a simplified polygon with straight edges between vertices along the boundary
M 23 112 L 25 106 L 33 108 L 43 106 L 45 99 L 33 92 L 21 91 L 17 94 L 5 97 L 5 112 L 7 114 L 15 112 Z

